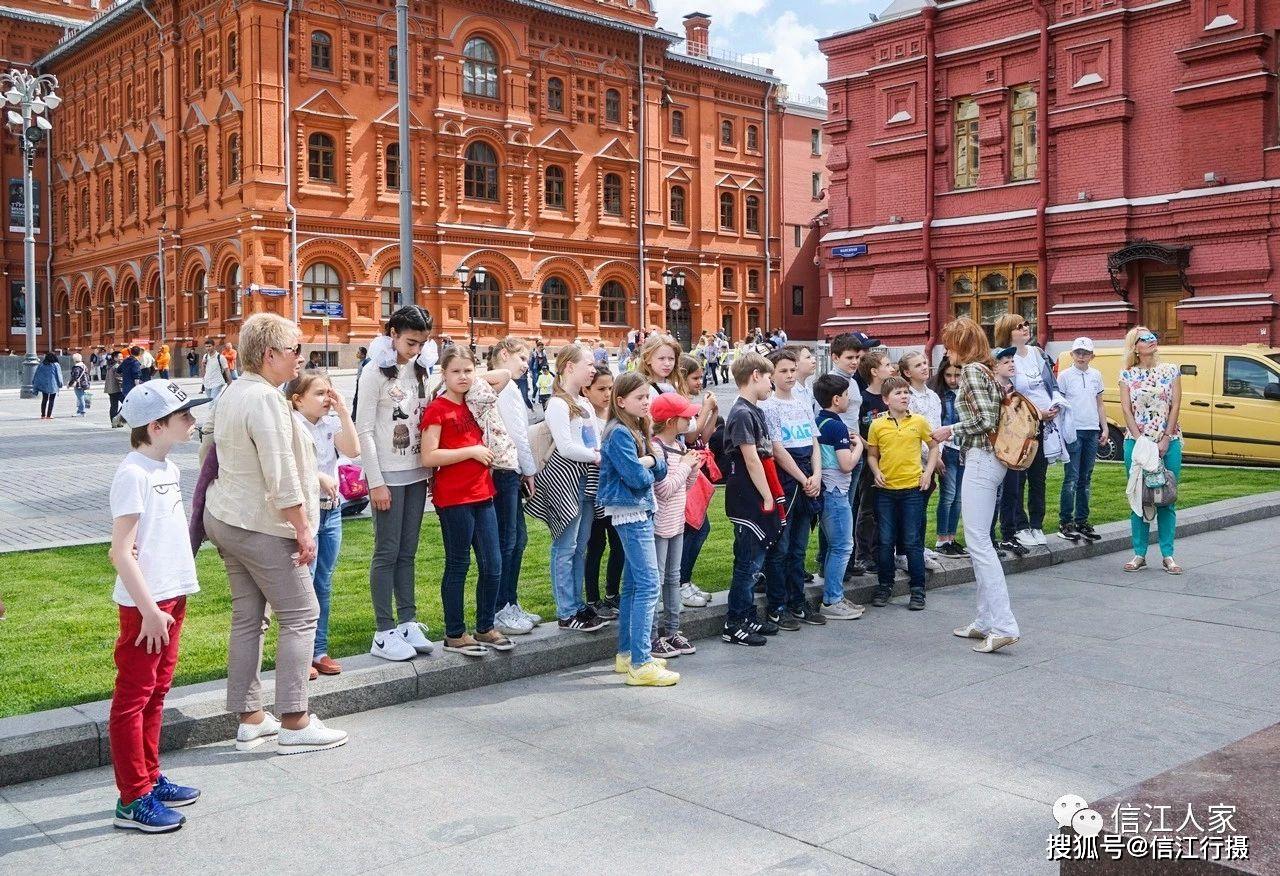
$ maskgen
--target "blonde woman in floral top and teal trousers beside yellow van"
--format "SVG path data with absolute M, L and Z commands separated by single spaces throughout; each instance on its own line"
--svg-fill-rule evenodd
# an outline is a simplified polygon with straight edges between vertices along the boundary
M 1165 469 L 1175 480 L 1183 474 L 1183 433 L 1178 426 L 1181 410 L 1183 387 L 1180 369 L 1160 361 L 1160 339 L 1144 325 L 1129 330 L 1124 338 L 1124 364 L 1120 371 L 1120 407 L 1124 411 L 1126 434 L 1124 439 L 1124 470 L 1133 465 L 1133 447 L 1138 438 L 1149 438 L 1160 447 Z M 1151 524 L 1140 515 L 1129 512 L 1133 534 L 1133 560 L 1125 571 L 1138 571 L 1147 565 L 1147 543 Z M 1183 569 L 1174 560 L 1174 530 L 1178 526 L 1175 506 L 1156 508 L 1156 529 L 1160 533 L 1160 556 L 1165 571 L 1181 575 Z

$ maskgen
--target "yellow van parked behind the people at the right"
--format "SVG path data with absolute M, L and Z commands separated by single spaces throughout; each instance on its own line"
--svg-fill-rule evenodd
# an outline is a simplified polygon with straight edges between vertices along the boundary
M 1102 458 L 1120 458 L 1123 347 L 1098 347 L 1093 368 L 1102 373 L 1111 446 Z M 1160 359 L 1183 373 L 1183 456 L 1199 461 L 1280 465 L 1280 347 L 1170 346 Z M 1071 368 L 1070 351 L 1057 357 Z

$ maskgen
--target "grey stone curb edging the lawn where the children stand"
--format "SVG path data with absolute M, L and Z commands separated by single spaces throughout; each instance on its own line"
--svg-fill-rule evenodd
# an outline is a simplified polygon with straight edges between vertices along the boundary
M 1187 538 L 1275 516 L 1280 516 L 1280 492 L 1225 499 L 1180 511 L 1178 535 Z M 1051 537 L 1047 548 L 1023 558 L 1006 560 L 1005 571 L 1034 571 L 1129 549 L 1126 521 L 1106 524 L 1098 531 L 1102 539 L 1093 544 L 1074 544 Z M 942 562 L 946 569 L 929 578 L 929 589 L 974 580 L 968 562 L 947 558 Z M 869 602 L 872 598 L 874 579 L 865 578 L 863 581 L 846 589 L 854 602 Z M 906 592 L 906 580 L 900 574 L 895 596 Z M 819 594 L 820 588 L 809 588 L 810 597 Z M 719 601 L 705 608 L 684 610 L 681 628 L 690 639 L 719 634 L 724 597 L 718 596 Z M 611 660 L 613 652 L 614 637 L 609 633 L 561 634 L 554 624 L 543 624 L 532 634 L 520 637 L 516 651 L 480 660 L 444 654 L 439 648 L 434 654 L 401 663 L 389 663 L 370 654 L 346 657 L 342 675 L 321 676 L 311 683 L 311 707 L 326 718 L 351 715 L 602 662 Z M 264 674 L 262 686 L 268 692 L 273 690 L 273 677 L 274 672 Z M 230 739 L 236 734 L 236 718 L 227 712 L 224 697 L 225 683 L 220 680 L 174 688 L 166 701 L 161 749 L 175 750 Z M 106 735 L 109 708 L 110 701 L 100 701 L 0 718 L 0 788 L 110 763 Z

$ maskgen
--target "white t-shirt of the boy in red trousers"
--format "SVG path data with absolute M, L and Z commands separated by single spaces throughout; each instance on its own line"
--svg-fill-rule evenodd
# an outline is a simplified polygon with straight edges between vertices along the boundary
M 160 602 L 198 593 L 177 465 L 169 460 L 157 462 L 137 451 L 124 457 L 111 480 L 111 519 L 131 514 L 141 515 L 136 540 L 138 566 L 151 598 Z M 119 575 L 111 598 L 118 604 L 134 606 Z

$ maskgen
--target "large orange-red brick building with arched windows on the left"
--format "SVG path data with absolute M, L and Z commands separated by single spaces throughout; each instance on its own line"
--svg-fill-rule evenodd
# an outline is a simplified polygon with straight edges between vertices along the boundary
M 655 23 L 648 0 L 416 0 L 402 166 L 390 3 L 287 17 L 268 0 L 120 0 L 40 60 L 64 97 L 46 188 L 55 341 L 180 352 L 234 341 L 250 312 L 292 315 L 296 296 L 308 346 L 324 338 L 308 305 L 340 305 L 329 338 L 349 362 L 399 286 L 402 179 L 416 300 L 440 332 L 466 337 L 474 318 L 481 345 L 556 345 L 763 325 L 786 273 L 785 92 L 714 56 L 709 17 L 682 37 Z M 470 297 L 460 265 L 485 268 Z

